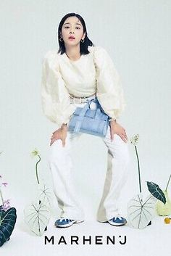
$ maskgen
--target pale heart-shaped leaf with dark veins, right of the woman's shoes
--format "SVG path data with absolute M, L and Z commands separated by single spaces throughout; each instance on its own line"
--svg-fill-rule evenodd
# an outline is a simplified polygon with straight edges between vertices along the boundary
M 141 194 L 136 195 L 128 202 L 128 220 L 133 228 L 146 228 L 155 216 L 155 205 L 157 199 L 153 196 L 147 197 L 144 201 Z

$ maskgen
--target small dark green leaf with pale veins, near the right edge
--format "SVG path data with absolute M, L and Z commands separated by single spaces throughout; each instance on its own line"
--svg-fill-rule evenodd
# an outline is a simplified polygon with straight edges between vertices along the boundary
M 147 181 L 147 186 L 149 189 L 149 192 L 156 197 L 159 201 L 163 202 L 164 205 L 166 203 L 166 197 L 164 196 L 164 193 L 162 189 L 159 188 L 159 185 L 157 185 L 154 182 Z

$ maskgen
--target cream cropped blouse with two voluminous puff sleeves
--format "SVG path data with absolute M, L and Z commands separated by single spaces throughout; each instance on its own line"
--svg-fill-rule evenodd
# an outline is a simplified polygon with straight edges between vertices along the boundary
M 88 46 L 89 54 L 71 60 L 57 50 L 43 56 L 41 100 L 43 113 L 59 126 L 69 123 L 75 105 L 70 94 L 90 96 L 96 93 L 104 112 L 114 119 L 125 108 L 120 76 L 111 57 L 101 46 Z

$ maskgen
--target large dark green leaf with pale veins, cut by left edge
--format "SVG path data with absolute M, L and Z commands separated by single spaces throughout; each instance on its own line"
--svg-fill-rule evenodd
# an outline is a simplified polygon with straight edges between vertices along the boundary
M 14 207 L 9 208 L 7 211 L 0 210 L 0 247 L 5 241 L 9 240 L 16 219 L 17 215 Z

